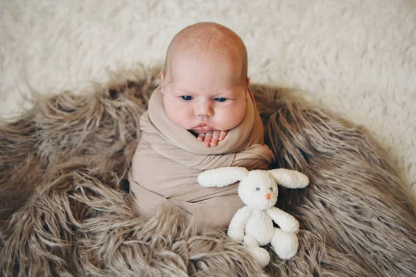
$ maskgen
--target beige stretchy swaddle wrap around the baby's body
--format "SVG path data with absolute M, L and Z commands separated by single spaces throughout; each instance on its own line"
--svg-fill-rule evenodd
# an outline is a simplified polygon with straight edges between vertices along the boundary
M 237 184 L 203 188 L 197 177 L 204 170 L 224 166 L 266 169 L 275 159 L 263 145 L 263 124 L 249 91 L 243 120 L 211 148 L 173 123 L 164 111 L 159 87 L 153 92 L 148 111 L 140 118 L 142 135 L 129 174 L 130 191 L 140 214 L 150 217 L 161 206 L 169 206 L 194 219 L 198 230 L 228 226 L 243 206 Z

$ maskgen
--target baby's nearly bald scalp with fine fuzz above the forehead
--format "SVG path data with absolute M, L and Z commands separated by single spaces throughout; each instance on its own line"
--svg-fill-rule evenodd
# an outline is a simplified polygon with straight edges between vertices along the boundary
M 239 35 L 229 28 L 211 22 L 188 26 L 173 37 L 165 60 L 166 80 L 173 79 L 175 60 L 184 56 L 204 61 L 224 57 L 241 63 L 241 78 L 245 80 L 248 70 L 247 49 Z

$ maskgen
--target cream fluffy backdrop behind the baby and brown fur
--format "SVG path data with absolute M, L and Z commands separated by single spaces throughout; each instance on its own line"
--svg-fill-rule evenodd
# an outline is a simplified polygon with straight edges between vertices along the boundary
M 29 91 L 79 90 L 162 64 L 181 28 L 216 21 L 244 40 L 252 82 L 301 89 L 364 125 L 416 192 L 416 2 L 141 0 L 0 3 L 0 116 Z

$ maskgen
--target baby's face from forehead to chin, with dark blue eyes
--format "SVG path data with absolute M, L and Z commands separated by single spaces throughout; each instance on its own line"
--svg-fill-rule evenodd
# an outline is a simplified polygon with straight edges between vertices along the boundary
M 171 78 L 162 93 L 166 115 L 194 134 L 239 125 L 245 114 L 250 79 L 241 78 L 241 61 L 232 57 L 201 60 L 180 57 L 171 66 Z

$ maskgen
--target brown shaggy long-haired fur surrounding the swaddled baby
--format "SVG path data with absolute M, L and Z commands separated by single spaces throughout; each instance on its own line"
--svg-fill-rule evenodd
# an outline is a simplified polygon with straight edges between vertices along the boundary
M 132 212 L 126 173 L 157 71 L 37 100 L 0 126 L 1 276 L 260 276 L 224 230 L 197 234 L 162 210 Z M 294 92 L 253 85 L 277 156 L 304 172 L 278 206 L 300 221 L 300 250 L 269 276 L 416 276 L 416 204 L 367 131 Z

